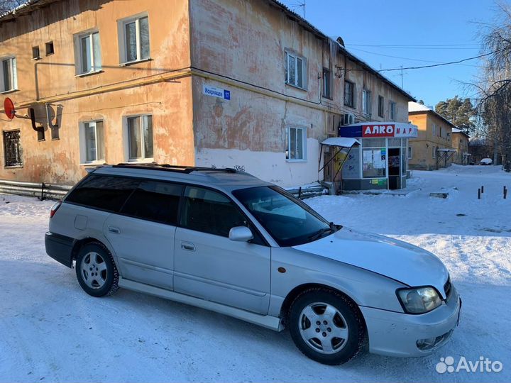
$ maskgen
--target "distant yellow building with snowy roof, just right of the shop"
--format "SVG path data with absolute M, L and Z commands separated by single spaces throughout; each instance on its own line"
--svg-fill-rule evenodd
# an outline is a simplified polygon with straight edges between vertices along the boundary
M 431 107 L 408 103 L 408 119 L 419 128 L 408 148 L 410 169 L 436 170 L 451 166 L 456 150 L 452 147 L 452 130 L 456 126 Z

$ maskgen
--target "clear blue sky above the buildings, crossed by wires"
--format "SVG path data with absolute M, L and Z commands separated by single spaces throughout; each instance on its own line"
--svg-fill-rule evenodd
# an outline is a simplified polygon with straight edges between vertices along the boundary
M 302 8 L 294 6 L 304 0 L 281 1 L 303 16 Z M 480 55 L 480 23 L 495 20 L 496 8 L 492 0 L 306 0 L 305 16 L 326 35 L 340 35 L 353 55 L 379 70 Z M 440 44 L 451 46 L 417 47 Z M 414 48 L 362 45 L 414 45 Z M 472 97 L 476 92 L 460 82 L 473 82 L 477 65 L 482 62 L 471 60 L 463 65 L 404 70 L 403 88 L 427 105 L 456 94 Z M 401 85 L 400 71 L 383 74 Z

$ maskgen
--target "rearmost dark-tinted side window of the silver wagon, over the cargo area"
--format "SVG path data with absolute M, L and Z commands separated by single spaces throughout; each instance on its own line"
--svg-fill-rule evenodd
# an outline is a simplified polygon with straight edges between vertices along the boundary
M 92 174 L 84 179 L 65 201 L 117 212 L 139 183 L 138 179 Z

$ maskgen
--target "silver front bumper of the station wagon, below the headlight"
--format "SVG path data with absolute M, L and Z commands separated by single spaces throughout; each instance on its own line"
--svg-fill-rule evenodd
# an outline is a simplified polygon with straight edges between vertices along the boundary
M 447 343 L 458 325 L 461 309 L 458 292 L 454 286 L 452 290 L 445 304 L 419 315 L 361 307 L 368 329 L 370 353 L 421 357 Z M 417 340 L 435 337 L 439 342 L 433 348 L 420 350 L 417 347 Z

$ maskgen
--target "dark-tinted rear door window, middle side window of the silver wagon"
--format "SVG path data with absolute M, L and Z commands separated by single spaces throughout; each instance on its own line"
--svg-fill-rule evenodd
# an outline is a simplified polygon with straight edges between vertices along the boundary
M 182 185 L 143 181 L 131 194 L 121 213 L 160 223 L 177 224 Z

